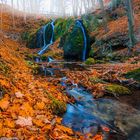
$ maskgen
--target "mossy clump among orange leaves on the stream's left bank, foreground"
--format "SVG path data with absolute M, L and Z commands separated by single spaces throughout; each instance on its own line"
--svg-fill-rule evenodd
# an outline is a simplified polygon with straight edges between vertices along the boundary
M 66 103 L 63 101 L 59 101 L 51 94 L 48 94 L 48 96 L 51 100 L 49 108 L 51 109 L 52 113 L 59 116 L 63 115 L 66 112 Z

